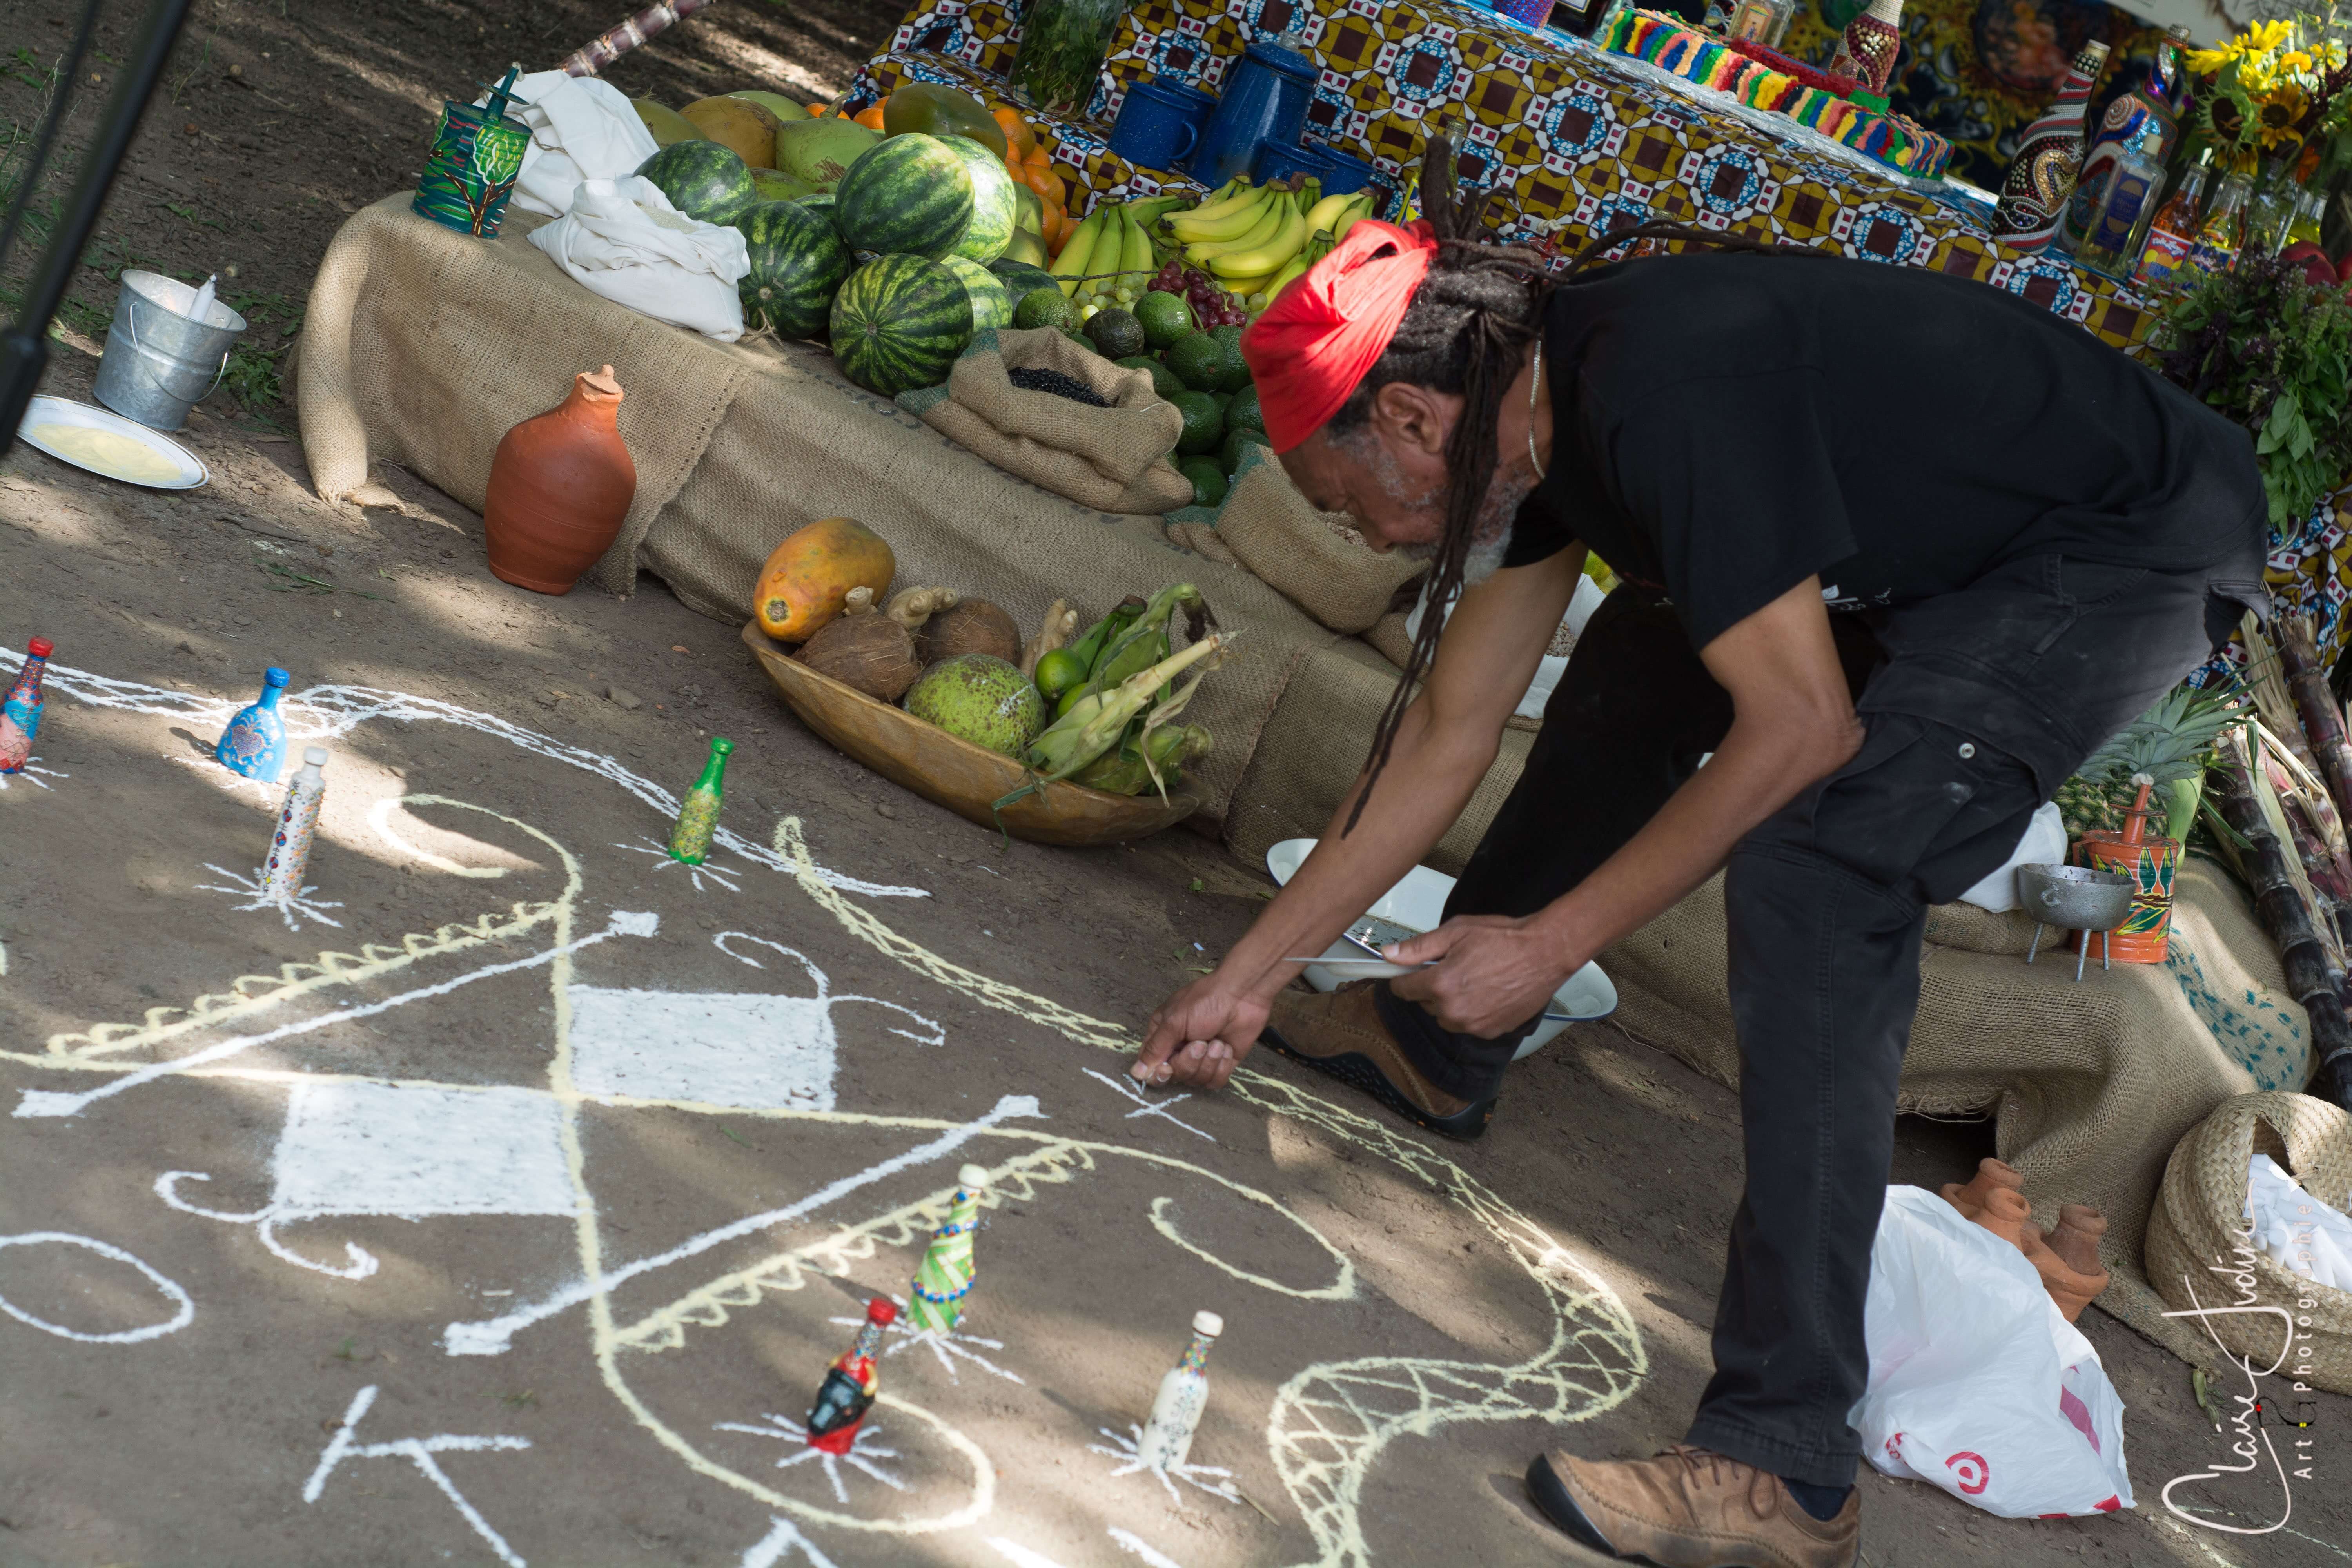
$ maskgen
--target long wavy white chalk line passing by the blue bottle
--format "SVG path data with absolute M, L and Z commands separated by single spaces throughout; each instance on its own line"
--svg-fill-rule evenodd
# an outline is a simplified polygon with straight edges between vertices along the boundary
M 0 668 L 16 670 L 24 665 L 24 654 L 16 649 L 0 649 Z M 94 675 L 89 670 L 75 670 L 71 665 L 49 665 L 45 677 L 45 691 L 52 696 L 61 693 L 75 703 L 89 703 L 92 708 L 111 708 L 115 712 L 143 712 L 160 719 L 186 719 L 200 733 L 216 733 L 228 724 L 230 717 L 252 698 L 223 698 L 223 696 L 200 696 L 195 691 L 172 691 L 169 686 L 148 686 L 143 682 L 115 679 L 111 675 Z M 372 719 L 390 719 L 395 724 L 452 724 L 456 729 L 470 729 L 480 736 L 494 741 L 506 741 L 513 748 L 532 752 L 536 757 L 548 757 L 550 762 L 562 762 L 564 766 L 581 769 L 583 773 L 595 773 L 609 783 L 621 785 L 640 802 L 652 806 L 663 823 L 677 820 L 677 795 L 663 790 L 652 778 L 640 778 L 621 766 L 614 757 L 602 752 L 590 752 L 579 745 L 564 745 L 555 736 L 543 736 L 536 729 L 522 729 L 520 724 L 508 724 L 506 719 L 477 712 L 473 708 L 459 708 L 456 703 L 442 703 L 428 696 L 409 696 L 407 691 L 383 691 L 379 686 L 308 686 L 303 691 L 287 691 L 278 701 L 278 712 L 287 724 L 287 745 L 294 748 L 303 741 L 339 741 L 348 736 L 360 724 Z M 176 757 L 191 766 L 228 780 L 235 785 L 249 785 L 256 780 L 240 778 L 216 762 L 200 757 Z M 270 785 L 261 785 L 263 804 L 273 811 L 278 799 L 270 795 Z M 755 844 L 736 835 L 731 827 L 720 827 L 713 837 L 717 849 L 753 860 L 755 865 L 767 865 L 769 870 L 797 875 L 795 867 L 786 865 L 767 844 Z M 929 898 L 929 889 L 917 886 L 894 886 L 887 882 L 863 882 L 858 877 L 842 877 L 840 872 L 818 867 L 816 872 L 828 886 L 837 886 L 844 893 L 863 893 L 866 898 Z

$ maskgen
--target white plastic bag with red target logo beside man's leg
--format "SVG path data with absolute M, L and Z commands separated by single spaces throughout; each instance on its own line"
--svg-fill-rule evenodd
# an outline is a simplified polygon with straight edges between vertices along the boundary
M 1889 1187 L 1870 1248 L 1870 1387 L 1853 1429 L 1879 1472 L 2002 1519 L 2131 1507 L 2124 1401 L 2034 1265 L 1922 1187 Z

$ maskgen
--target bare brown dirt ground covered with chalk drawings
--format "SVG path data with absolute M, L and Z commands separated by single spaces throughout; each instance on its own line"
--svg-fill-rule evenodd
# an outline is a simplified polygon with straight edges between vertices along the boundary
M 0 16 L 21 134 L 64 33 Z M 1117 1041 L 1261 867 L 1002 846 L 814 741 L 652 578 L 546 599 L 397 470 L 397 510 L 306 489 L 273 350 L 334 226 L 442 96 L 612 21 L 202 0 L 45 390 L 87 397 L 113 270 L 219 268 L 256 353 L 191 421 L 214 480 L 0 463 L 0 642 L 59 665 L 0 790 L 0 1103 L 45 1112 L 0 1121 L 0 1568 L 1590 1561 L 1519 1472 L 1679 1439 L 1726 1091 L 1583 1025 L 1468 1147 L 1279 1060 L 1141 1103 Z M 729 0 L 614 80 L 830 92 L 894 21 Z M 240 889 L 273 792 L 209 762 L 270 663 L 334 752 L 292 922 Z M 731 837 L 689 875 L 661 806 L 715 733 Z M 1907 1119 L 1891 1180 L 1990 1147 Z M 997 1201 L 957 1335 L 891 1338 L 861 1448 L 811 1462 L 793 1422 L 964 1159 Z M 1162 1483 L 1122 1443 L 1200 1307 L 1228 1328 Z M 2258 1476 L 2178 1488 L 2190 1528 L 2159 1493 L 2227 1439 L 2185 1366 L 2084 1328 L 2138 1507 L 2002 1521 L 1865 1469 L 1867 1563 L 2352 1561 L 2352 1401 L 2286 1528 L 2223 1533 L 2279 1516 Z

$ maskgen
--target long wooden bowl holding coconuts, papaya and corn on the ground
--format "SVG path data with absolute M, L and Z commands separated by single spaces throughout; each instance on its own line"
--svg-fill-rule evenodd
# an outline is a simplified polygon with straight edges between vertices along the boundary
M 762 632 L 757 621 L 743 625 L 743 646 L 760 661 L 783 705 L 800 715 L 802 724 L 882 778 L 938 802 L 967 823 L 981 827 L 1002 823 L 1004 832 L 1037 844 L 1120 844 L 1174 827 L 1200 809 L 1200 797 L 1181 790 L 1162 802 L 1157 792 L 1108 795 L 1075 783 L 1049 783 L 1004 811 L 990 811 L 995 802 L 1028 783 L 1028 769 L 1018 762 L 924 724 L 903 708 L 877 703 L 830 675 L 818 675 Z

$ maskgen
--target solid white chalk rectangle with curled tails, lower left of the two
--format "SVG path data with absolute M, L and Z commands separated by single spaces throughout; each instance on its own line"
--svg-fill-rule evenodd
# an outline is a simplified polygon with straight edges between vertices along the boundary
M 536 1088 L 437 1088 L 416 1084 L 296 1084 L 270 1157 L 270 1201 L 254 1213 L 198 1208 L 179 1182 L 200 1171 L 165 1171 L 155 1197 L 181 1213 L 252 1225 L 275 1258 L 334 1279 L 367 1279 L 376 1258 L 353 1241 L 346 1265 L 315 1262 L 280 1241 L 296 1220 L 452 1213 L 572 1218 L 562 1117 Z

